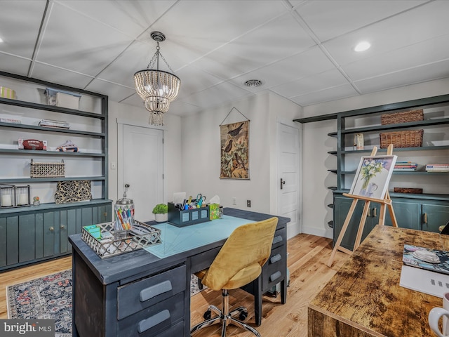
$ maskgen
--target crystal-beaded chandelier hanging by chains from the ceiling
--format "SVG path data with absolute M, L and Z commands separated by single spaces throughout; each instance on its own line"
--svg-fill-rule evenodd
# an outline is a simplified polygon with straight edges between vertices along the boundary
M 163 125 L 163 114 L 168 112 L 170 102 L 175 100 L 180 90 L 181 80 L 173 74 L 170 65 L 159 51 L 159 42 L 166 39 L 165 35 L 161 32 L 152 32 L 151 37 L 157 42 L 156 53 L 149 61 L 146 70 L 140 70 L 134 74 L 134 84 L 135 91 L 145 101 L 145 108 L 149 111 L 149 124 Z M 163 62 L 166 62 L 170 72 L 159 70 L 159 56 Z

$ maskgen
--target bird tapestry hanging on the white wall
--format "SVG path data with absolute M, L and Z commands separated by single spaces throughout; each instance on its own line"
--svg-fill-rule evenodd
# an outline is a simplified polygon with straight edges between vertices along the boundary
M 250 121 L 220 125 L 220 178 L 249 179 Z

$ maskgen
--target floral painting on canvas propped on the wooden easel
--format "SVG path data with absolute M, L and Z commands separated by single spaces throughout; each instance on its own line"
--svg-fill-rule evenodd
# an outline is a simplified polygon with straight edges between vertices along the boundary
M 397 156 L 361 157 L 349 194 L 385 199 Z

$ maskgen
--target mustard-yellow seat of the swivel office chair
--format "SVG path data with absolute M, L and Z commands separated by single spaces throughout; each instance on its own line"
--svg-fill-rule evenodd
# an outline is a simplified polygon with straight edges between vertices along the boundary
M 262 267 L 260 267 L 259 263 L 253 263 L 251 265 L 248 265 L 247 267 L 244 267 L 242 270 L 239 270 L 239 272 L 236 273 L 227 284 L 222 286 L 221 288 L 215 289 L 213 287 L 213 284 L 215 283 L 214 279 L 220 278 L 220 277 L 226 277 L 225 271 L 223 272 L 223 275 L 217 275 L 220 274 L 215 270 L 215 275 L 208 275 L 208 269 L 201 270 L 201 272 L 196 272 L 195 275 L 201 279 L 201 283 L 205 286 L 208 286 L 210 289 L 213 290 L 221 290 L 221 289 L 237 289 L 241 286 L 244 286 L 250 282 L 253 282 L 257 277 L 259 277 L 260 273 L 262 272 Z M 210 277 L 213 277 L 213 279 L 210 279 Z

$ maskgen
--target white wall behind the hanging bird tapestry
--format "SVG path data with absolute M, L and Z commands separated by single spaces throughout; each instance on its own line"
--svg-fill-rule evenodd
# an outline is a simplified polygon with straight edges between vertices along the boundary
M 220 124 L 232 107 L 250 119 L 250 180 L 220 179 Z M 276 214 L 276 119 L 292 121 L 300 107 L 273 93 L 217 107 L 182 119 L 182 191 L 207 200 L 217 194 L 225 207 Z M 243 121 L 233 110 L 223 124 Z M 233 198 L 236 205 L 233 205 Z

